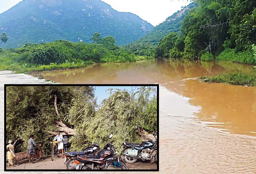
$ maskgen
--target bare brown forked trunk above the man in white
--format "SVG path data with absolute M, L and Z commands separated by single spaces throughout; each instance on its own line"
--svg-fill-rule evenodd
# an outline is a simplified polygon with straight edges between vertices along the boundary
M 57 116 L 60 117 L 58 107 L 57 107 L 57 95 L 56 94 L 54 94 L 54 107 L 55 107 Z M 54 120 L 54 123 L 55 123 L 55 127 L 57 127 L 57 130 L 60 131 L 62 135 L 74 135 L 75 134 L 75 130 L 66 126 L 62 122 L 61 119 L 59 121 Z M 53 131 L 49 131 L 49 133 L 54 134 L 54 135 L 57 134 L 57 132 L 53 132 Z

